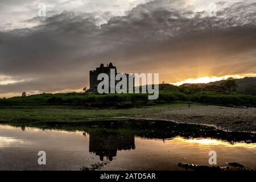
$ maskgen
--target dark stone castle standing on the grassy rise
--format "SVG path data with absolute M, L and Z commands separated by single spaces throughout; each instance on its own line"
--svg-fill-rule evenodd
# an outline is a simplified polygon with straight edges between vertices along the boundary
M 113 66 L 112 63 L 109 63 L 104 67 L 104 64 L 101 64 L 100 67 L 96 68 L 95 70 L 90 71 L 90 90 L 97 90 L 98 84 L 101 82 L 101 80 L 97 80 L 98 75 L 100 73 L 106 73 L 109 76 L 109 89 L 110 89 L 110 69 L 114 69 L 115 76 L 117 75 L 117 68 Z M 133 75 L 128 73 L 121 73 L 124 74 L 127 78 L 127 89 L 129 88 L 129 77 L 133 77 Z M 115 81 L 115 85 L 119 81 Z M 133 78 L 133 88 L 134 88 L 134 78 Z

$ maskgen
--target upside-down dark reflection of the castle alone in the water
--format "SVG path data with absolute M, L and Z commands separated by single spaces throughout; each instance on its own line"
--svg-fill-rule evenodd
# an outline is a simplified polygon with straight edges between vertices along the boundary
M 134 135 L 122 135 L 110 132 L 90 132 L 89 152 L 93 152 L 100 156 L 100 160 L 104 157 L 110 161 L 117 156 L 118 150 L 135 149 Z

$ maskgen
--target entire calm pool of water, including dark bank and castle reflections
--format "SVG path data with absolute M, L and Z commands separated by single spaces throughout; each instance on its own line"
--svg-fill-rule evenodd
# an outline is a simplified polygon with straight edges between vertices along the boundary
M 254 134 L 159 121 L 41 128 L 0 125 L 0 170 L 79 170 L 101 161 L 109 162 L 101 170 L 182 170 L 177 163 L 209 166 L 212 150 L 218 166 L 237 162 L 256 168 Z M 46 165 L 38 164 L 38 151 L 46 152 Z

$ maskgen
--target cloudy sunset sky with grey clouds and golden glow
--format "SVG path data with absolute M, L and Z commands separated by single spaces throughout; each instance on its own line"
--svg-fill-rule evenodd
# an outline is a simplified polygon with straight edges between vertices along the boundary
M 80 91 L 110 61 L 160 82 L 256 74 L 256 0 L 0 0 L 0 15 L 0 97 Z

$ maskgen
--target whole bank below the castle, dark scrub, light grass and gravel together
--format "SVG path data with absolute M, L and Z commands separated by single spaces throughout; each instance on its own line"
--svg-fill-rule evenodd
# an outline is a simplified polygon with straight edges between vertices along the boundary
M 110 120 L 113 117 L 143 117 L 203 123 L 236 131 L 255 131 L 253 108 L 239 110 L 235 107 L 206 106 L 191 109 L 195 105 L 255 107 L 255 96 L 226 93 L 225 90 L 216 92 L 202 91 L 201 88 L 180 89 L 168 86 L 167 89 L 160 89 L 158 100 L 148 100 L 147 94 L 95 93 L 37 94 L 2 98 L 0 122 L 84 122 Z M 189 104 L 191 107 L 188 107 Z

